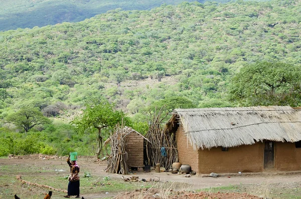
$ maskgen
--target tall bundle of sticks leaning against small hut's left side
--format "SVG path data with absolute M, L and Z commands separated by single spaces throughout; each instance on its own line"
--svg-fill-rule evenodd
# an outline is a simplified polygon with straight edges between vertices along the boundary
M 126 135 L 128 132 L 123 126 L 116 125 L 114 133 L 110 136 L 111 154 L 107 160 L 106 172 L 128 174 L 127 155 L 125 152 Z

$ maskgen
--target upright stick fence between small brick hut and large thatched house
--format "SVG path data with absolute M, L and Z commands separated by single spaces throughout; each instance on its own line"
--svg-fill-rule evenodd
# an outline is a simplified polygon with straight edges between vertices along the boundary
M 174 162 L 179 161 L 177 143 L 174 133 L 164 133 L 162 120 L 165 117 L 162 118 L 161 114 L 162 109 L 159 111 L 156 109 L 154 114 L 150 114 L 152 121 L 149 123 L 146 135 L 150 141 L 150 146 L 146 146 L 148 148 L 148 163 L 152 166 L 160 163 L 160 166 L 169 169 Z M 165 148 L 167 156 L 162 155 L 162 147 Z

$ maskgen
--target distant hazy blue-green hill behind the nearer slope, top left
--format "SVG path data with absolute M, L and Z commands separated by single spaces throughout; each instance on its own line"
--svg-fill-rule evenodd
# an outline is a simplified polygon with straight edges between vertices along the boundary
M 150 10 L 162 4 L 177 5 L 181 2 L 184 0 L 0 0 L 0 31 L 80 22 L 117 8 L 125 11 Z M 215 2 L 225 3 L 229 0 Z

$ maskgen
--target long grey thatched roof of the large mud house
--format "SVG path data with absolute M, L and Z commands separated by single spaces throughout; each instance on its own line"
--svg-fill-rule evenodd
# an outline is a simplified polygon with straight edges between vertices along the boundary
M 288 106 L 175 109 L 165 130 L 179 124 L 194 150 L 301 140 L 301 112 Z

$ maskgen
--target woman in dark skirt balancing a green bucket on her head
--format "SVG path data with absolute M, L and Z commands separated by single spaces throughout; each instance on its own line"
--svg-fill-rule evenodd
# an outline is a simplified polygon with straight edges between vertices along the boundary
M 79 198 L 79 166 L 76 163 L 76 160 L 70 162 L 70 155 L 67 158 L 67 163 L 70 166 L 70 175 L 68 177 L 68 194 L 64 197 L 70 197 L 70 195 L 76 195 L 75 198 Z

